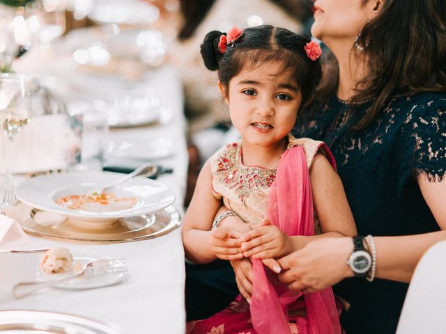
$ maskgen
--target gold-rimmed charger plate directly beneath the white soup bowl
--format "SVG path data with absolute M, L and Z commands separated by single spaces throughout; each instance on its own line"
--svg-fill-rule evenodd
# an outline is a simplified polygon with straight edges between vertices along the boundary
M 84 228 L 60 214 L 33 209 L 24 203 L 5 208 L 25 232 L 44 237 L 93 242 L 130 242 L 153 239 L 180 226 L 180 214 L 173 207 L 134 217 L 125 217 L 105 228 Z

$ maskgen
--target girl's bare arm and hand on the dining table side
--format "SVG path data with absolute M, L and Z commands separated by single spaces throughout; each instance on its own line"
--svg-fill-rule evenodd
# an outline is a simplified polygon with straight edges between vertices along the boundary
M 209 161 L 199 174 L 194 195 L 183 219 L 183 244 L 187 259 L 197 263 L 212 262 L 216 253 L 240 253 L 239 234 L 230 228 L 211 231 L 211 225 L 221 202 L 213 196 Z

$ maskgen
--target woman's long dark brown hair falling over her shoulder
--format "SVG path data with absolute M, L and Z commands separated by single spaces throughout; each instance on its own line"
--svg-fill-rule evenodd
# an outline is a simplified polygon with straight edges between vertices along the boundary
M 365 4 L 369 0 L 362 0 Z M 368 58 L 368 74 L 357 83 L 354 101 L 371 100 L 367 115 L 353 129 L 364 129 L 393 95 L 446 91 L 445 0 L 386 0 L 362 29 L 353 52 Z M 336 92 L 339 65 L 329 56 L 318 95 Z

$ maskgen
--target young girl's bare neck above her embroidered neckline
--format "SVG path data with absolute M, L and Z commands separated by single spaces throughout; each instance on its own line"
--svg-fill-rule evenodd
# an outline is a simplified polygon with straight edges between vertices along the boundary
M 275 169 L 279 165 L 280 154 L 286 150 L 288 141 L 280 141 L 277 145 L 252 145 L 242 140 L 242 163 L 245 166 L 258 166 Z

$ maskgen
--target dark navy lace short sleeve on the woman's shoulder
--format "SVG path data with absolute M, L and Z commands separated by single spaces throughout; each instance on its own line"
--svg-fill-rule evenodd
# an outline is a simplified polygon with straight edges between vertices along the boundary
M 410 173 L 429 181 L 446 177 L 446 98 L 414 104 L 403 122 L 397 145 L 398 188 Z

